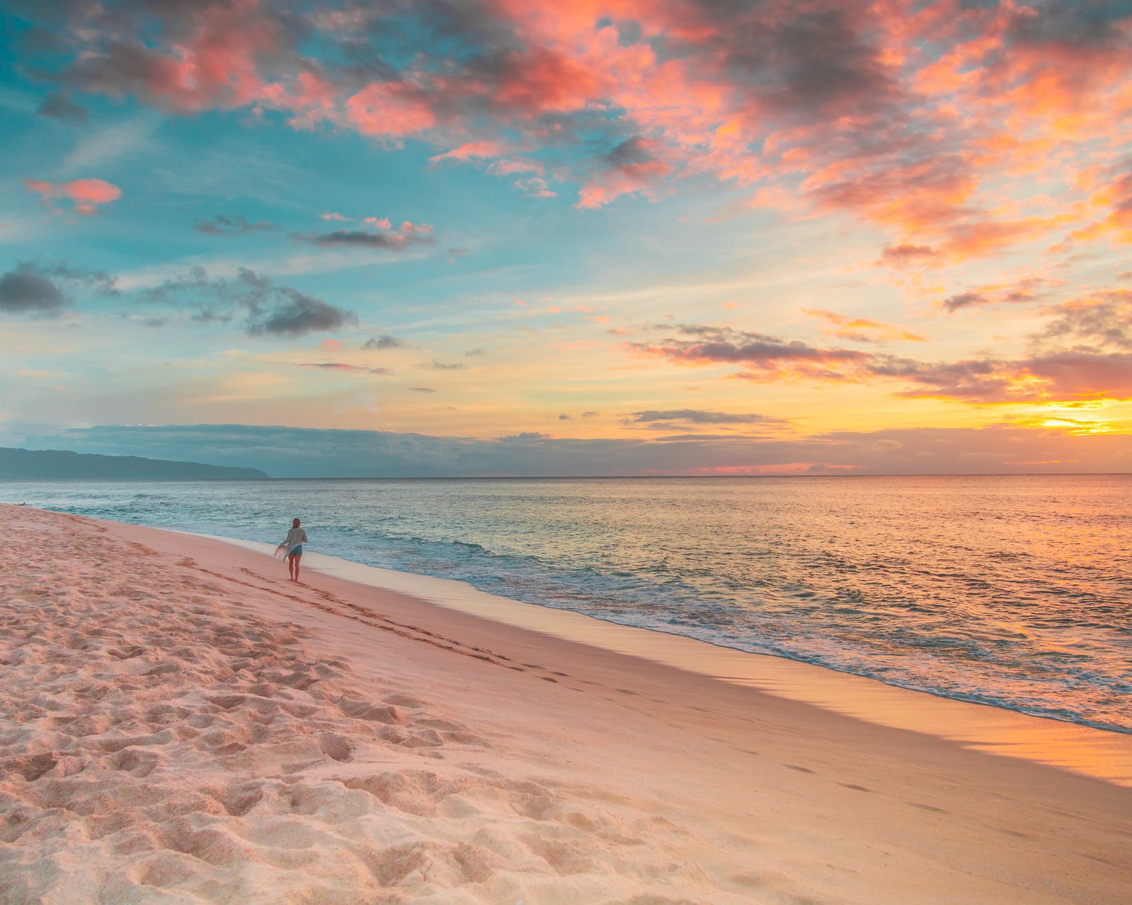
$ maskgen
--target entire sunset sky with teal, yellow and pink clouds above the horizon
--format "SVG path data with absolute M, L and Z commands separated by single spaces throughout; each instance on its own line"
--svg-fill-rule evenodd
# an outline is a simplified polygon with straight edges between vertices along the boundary
M 1132 471 L 1132 7 L 0 0 L 0 446 Z

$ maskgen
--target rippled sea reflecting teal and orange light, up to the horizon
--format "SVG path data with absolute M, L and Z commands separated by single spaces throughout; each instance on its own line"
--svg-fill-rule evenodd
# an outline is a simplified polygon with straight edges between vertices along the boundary
M 1132 732 L 1132 475 L 0 482 Z

